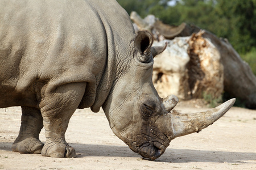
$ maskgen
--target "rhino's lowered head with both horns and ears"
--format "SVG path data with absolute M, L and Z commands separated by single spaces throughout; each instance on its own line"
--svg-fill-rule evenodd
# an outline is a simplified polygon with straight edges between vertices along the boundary
M 213 124 L 234 100 L 207 112 L 181 114 L 172 110 L 176 96 L 159 97 L 152 83 L 153 58 L 166 46 L 151 47 L 151 33 L 139 31 L 130 61 L 119 71 L 104 111 L 110 127 L 131 150 L 152 160 L 164 153 L 171 140 Z

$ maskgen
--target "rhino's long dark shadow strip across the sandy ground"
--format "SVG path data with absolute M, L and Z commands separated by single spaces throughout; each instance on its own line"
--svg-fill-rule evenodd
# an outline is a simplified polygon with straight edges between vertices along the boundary
M 91 145 L 81 143 L 69 144 L 76 149 L 78 159 L 86 156 L 141 158 L 139 154 L 131 151 L 127 146 Z M 0 142 L 0 150 L 11 151 L 11 145 L 12 143 L 10 142 Z M 256 160 L 256 153 L 167 148 L 166 152 L 155 161 L 168 163 L 227 162 L 250 164 L 246 162 L 248 160 Z

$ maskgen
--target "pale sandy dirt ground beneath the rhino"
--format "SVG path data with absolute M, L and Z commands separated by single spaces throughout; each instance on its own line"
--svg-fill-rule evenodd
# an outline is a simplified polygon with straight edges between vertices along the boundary
M 181 103 L 185 113 L 203 111 L 196 103 Z M 155 161 L 130 150 L 109 128 L 103 111 L 77 110 L 66 140 L 77 158 L 49 158 L 11 151 L 19 133 L 19 107 L 0 109 L 0 169 L 256 169 L 256 111 L 233 107 L 213 125 L 174 139 Z M 40 134 L 46 141 L 44 129 Z

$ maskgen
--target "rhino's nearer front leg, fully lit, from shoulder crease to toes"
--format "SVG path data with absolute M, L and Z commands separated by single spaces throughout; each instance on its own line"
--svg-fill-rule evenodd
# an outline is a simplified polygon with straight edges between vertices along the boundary
M 42 149 L 43 156 L 68 157 L 76 155 L 75 149 L 65 141 L 65 131 L 72 114 L 82 100 L 86 83 L 69 83 L 46 94 L 40 103 L 46 130 L 46 144 Z

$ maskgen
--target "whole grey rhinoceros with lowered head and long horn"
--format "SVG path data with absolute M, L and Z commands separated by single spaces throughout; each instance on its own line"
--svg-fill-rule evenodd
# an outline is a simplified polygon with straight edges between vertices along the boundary
M 177 97 L 162 99 L 152 83 L 153 58 L 166 46 L 135 32 L 114 0 L 1 0 L 0 7 L 0 108 L 22 108 L 14 152 L 75 156 L 65 141 L 69 118 L 102 107 L 113 133 L 154 160 L 172 139 L 213 124 L 234 103 L 175 111 Z

